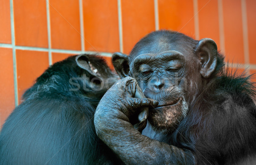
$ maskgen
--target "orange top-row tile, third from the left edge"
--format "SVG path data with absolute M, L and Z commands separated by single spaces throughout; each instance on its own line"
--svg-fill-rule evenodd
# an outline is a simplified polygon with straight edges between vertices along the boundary
M 52 48 L 81 50 L 79 1 L 50 0 L 49 4 Z

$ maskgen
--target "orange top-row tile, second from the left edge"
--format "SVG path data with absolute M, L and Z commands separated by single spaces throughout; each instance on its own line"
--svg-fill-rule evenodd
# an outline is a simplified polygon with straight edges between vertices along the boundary
M 48 47 L 45 0 L 14 0 L 15 43 Z

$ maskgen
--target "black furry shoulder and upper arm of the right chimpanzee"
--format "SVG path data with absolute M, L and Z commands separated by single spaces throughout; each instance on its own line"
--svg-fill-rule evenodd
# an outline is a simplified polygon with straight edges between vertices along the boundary
M 235 164 L 256 156 L 256 106 L 250 76 L 222 68 L 189 107 L 169 144 L 192 150 L 197 164 Z M 243 162 L 240 162 L 241 164 Z M 255 159 L 249 164 L 255 163 Z

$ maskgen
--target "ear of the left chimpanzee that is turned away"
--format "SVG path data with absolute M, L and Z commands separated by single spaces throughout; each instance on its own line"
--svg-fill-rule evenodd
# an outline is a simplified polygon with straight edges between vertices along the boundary
M 82 69 L 87 71 L 89 76 L 101 77 L 96 67 L 90 63 L 90 59 L 86 54 L 80 54 L 76 56 L 76 64 Z

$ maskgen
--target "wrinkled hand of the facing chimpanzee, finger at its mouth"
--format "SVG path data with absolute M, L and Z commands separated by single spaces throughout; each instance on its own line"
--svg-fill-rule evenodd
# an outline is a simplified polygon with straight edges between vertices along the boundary
M 148 117 L 146 107 L 157 104 L 157 101 L 145 98 L 134 78 L 127 77 L 116 82 L 106 92 L 97 109 L 104 111 L 104 115 L 108 117 L 124 120 L 125 124 L 132 124 L 135 129 L 142 131 Z

